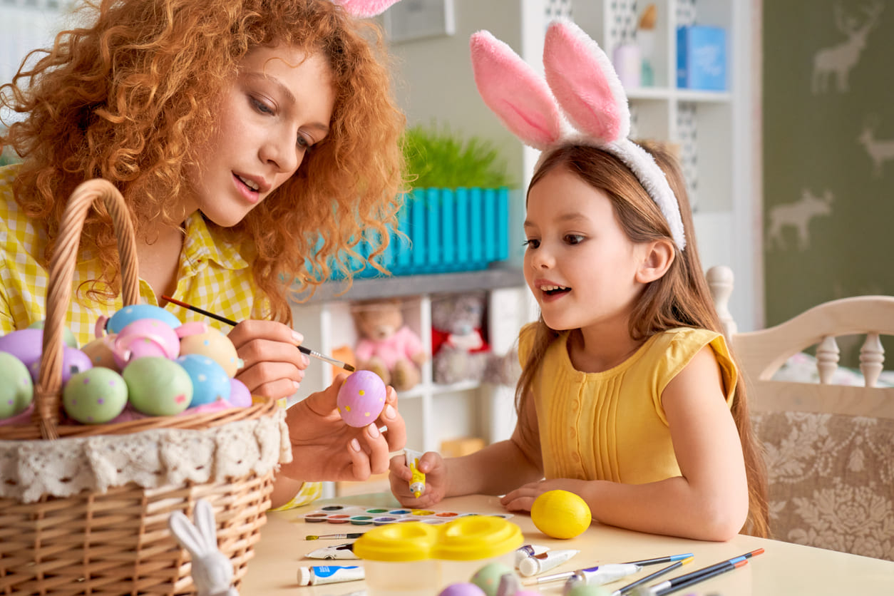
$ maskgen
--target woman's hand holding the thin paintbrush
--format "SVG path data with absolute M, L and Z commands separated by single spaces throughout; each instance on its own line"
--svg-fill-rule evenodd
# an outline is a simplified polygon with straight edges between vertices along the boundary
M 245 365 L 236 378 L 252 395 L 288 398 L 299 388 L 308 357 L 298 351 L 304 338 L 276 321 L 242 321 L 227 336 Z

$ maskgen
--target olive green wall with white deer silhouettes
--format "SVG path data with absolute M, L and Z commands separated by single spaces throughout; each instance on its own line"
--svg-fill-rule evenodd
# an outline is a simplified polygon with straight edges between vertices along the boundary
M 894 2 L 763 3 L 763 172 L 768 326 L 894 295 Z

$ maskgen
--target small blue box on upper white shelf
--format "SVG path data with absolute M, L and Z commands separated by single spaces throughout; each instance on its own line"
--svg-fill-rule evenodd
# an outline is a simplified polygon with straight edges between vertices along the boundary
M 726 29 L 694 25 L 677 28 L 677 87 L 725 91 Z

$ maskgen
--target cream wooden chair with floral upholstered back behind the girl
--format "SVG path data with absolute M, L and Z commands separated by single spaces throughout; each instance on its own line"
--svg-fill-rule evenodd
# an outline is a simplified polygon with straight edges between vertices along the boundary
M 732 272 L 713 267 L 707 278 L 763 442 L 772 538 L 894 560 L 894 387 L 875 386 L 880 335 L 894 335 L 894 297 L 832 300 L 739 333 L 727 307 Z M 831 384 L 842 335 L 865 336 L 862 387 Z M 819 382 L 773 380 L 812 346 Z

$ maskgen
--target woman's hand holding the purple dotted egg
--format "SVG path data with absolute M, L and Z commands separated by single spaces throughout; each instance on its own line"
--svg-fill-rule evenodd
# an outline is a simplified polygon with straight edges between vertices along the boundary
M 296 350 L 297 351 L 297 350 Z M 290 407 L 292 461 L 281 473 L 302 481 L 367 480 L 388 469 L 391 451 L 403 449 L 407 429 L 397 411 L 397 393 L 387 388 L 385 407 L 373 424 L 356 428 L 345 424 L 338 411 L 338 390 L 347 374 L 338 374 L 325 390 L 311 393 Z M 379 432 L 378 427 L 388 427 Z

